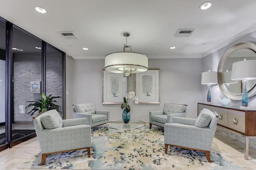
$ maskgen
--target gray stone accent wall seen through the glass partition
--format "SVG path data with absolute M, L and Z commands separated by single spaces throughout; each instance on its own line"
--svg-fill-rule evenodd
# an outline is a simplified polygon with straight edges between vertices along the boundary
M 15 53 L 14 57 L 14 121 L 31 122 L 28 114 L 19 114 L 19 105 L 26 101 L 41 99 L 40 94 L 30 92 L 30 81 L 41 81 L 41 53 Z M 62 54 L 52 53 L 46 57 L 46 95 L 62 97 Z M 62 98 L 56 99 L 62 109 Z M 32 108 L 27 108 L 27 113 Z M 34 114 L 36 115 L 36 113 Z

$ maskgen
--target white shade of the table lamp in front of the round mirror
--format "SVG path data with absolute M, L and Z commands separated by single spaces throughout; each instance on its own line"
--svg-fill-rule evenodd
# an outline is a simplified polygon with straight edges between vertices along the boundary
M 232 64 L 232 80 L 256 79 L 256 60 L 238 61 Z

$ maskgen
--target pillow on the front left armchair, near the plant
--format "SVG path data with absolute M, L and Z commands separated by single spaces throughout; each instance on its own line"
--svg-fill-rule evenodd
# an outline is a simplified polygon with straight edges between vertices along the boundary
M 46 129 L 63 127 L 62 118 L 56 110 L 46 111 L 40 120 Z

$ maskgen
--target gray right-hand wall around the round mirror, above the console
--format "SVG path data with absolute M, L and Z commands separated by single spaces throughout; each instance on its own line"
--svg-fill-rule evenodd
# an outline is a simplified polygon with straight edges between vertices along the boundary
M 211 53 L 210 55 L 207 55 L 202 59 L 202 72 L 204 71 L 217 71 L 219 61 L 222 57 L 222 55 L 225 53 L 225 51 L 230 48 L 232 45 L 235 45 L 236 43 L 240 42 L 256 42 L 256 31 L 252 32 L 251 34 L 248 34 L 235 42 L 230 43 L 226 47 L 223 47 L 219 49 L 218 51 L 215 51 L 214 53 Z M 207 102 L 207 92 L 208 88 L 206 85 L 202 85 L 202 102 Z M 212 103 L 219 103 L 219 98 L 222 99 L 225 96 L 221 93 L 220 88 L 218 85 L 212 85 L 211 87 L 211 95 L 212 95 Z M 232 103 L 234 105 L 242 105 L 242 101 L 234 101 L 232 100 Z M 256 97 L 252 97 L 249 99 L 248 106 L 256 107 Z

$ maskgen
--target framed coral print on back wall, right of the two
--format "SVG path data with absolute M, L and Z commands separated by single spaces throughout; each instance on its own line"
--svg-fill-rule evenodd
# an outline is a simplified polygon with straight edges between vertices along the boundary
M 138 103 L 160 103 L 160 69 L 148 69 L 134 76 L 134 89 Z

